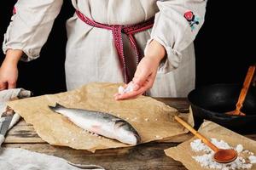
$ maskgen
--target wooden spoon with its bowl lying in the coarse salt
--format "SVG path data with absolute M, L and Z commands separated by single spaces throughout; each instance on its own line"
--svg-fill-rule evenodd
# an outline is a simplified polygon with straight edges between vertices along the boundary
M 213 160 L 217 161 L 219 163 L 228 163 L 230 161 L 235 161 L 237 158 L 237 152 L 236 150 L 229 149 L 229 150 L 223 150 L 223 149 L 218 149 L 217 146 L 212 144 L 206 137 L 204 137 L 201 133 L 197 132 L 193 127 L 191 127 L 187 122 L 184 122 L 181 118 L 178 116 L 174 116 L 174 119 L 182 124 L 184 127 L 186 127 L 191 133 L 195 134 L 195 136 L 207 146 L 209 146 L 213 151 Z

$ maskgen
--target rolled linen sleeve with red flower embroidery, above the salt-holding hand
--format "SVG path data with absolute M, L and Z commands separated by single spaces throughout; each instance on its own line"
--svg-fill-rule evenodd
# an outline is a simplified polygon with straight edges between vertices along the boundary
M 181 52 L 194 41 L 204 22 L 206 5 L 206 0 L 157 1 L 160 11 L 155 14 L 148 43 L 155 40 L 166 48 L 166 58 L 160 62 L 159 73 L 166 73 L 178 67 Z

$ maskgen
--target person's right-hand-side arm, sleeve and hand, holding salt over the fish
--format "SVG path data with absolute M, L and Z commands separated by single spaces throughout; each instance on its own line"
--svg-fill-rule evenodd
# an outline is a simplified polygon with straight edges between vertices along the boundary
M 183 49 L 189 47 L 200 30 L 206 12 L 205 0 L 162 0 L 155 14 L 151 38 L 145 56 L 137 66 L 133 81 L 134 91 L 116 94 L 115 99 L 132 99 L 143 94 L 154 84 L 156 73 L 167 73 L 178 67 Z M 159 51 L 165 49 L 165 57 Z M 157 59 L 149 56 L 154 54 Z M 156 55 L 155 55 L 156 54 Z

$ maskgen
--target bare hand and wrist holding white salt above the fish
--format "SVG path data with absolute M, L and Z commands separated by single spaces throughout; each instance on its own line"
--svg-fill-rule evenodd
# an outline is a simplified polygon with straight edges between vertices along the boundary
M 132 81 L 125 85 L 125 87 L 133 85 L 133 91 L 125 94 L 114 94 L 114 98 L 117 100 L 134 99 L 152 88 L 160 60 L 164 58 L 165 54 L 166 50 L 159 42 L 155 40 L 150 42 L 145 57 L 137 65 Z

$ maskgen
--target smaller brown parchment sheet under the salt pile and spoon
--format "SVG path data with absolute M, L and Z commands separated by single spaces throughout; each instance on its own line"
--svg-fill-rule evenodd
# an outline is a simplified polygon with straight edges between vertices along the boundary
M 256 141 L 252 139 L 247 139 L 238 133 L 234 133 L 225 127 L 221 127 L 218 124 L 210 121 L 204 122 L 199 128 L 199 132 L 202 133 L 207 139 L 223 139 L 225 142 L 231 146 L 236 146 L 237 144 L 242 144 L 244 150 L 250 150 L 254 154 L 256 153 Z M 190 148 L 190 142 L 194 139 L 190 139 L 182 144 L 177 145 L 177 147 L 172 147 L 165 150 L 166 156 L 172 157 L 176 161 L 181 161 L 185 167 L 191 170 L 209 170 L 209 168 L 201 167 L 200 163 L 195 161 L 192 156 L 196 156 L 196 152 L 192 151 Z M 251 168 L 256 170 L 255 164 Z

